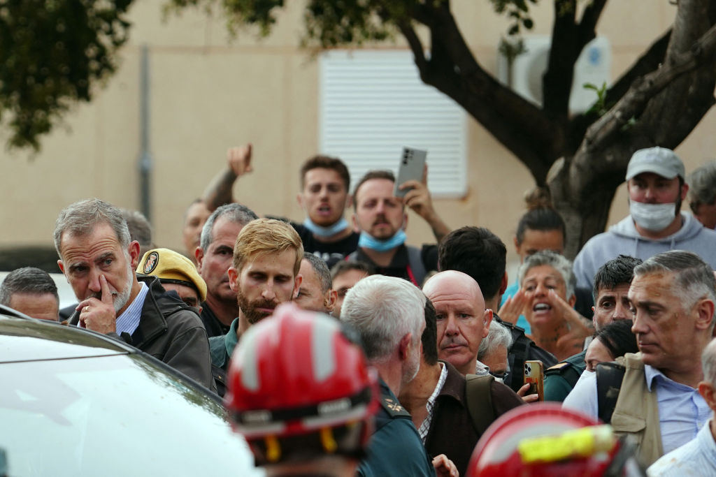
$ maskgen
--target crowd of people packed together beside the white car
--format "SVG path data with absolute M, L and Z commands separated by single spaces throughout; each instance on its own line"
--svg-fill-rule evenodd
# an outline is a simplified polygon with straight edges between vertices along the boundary
M 54 230 L 77 304 L 59 310 L 52 277 L 32 267 L 7 275 L 0 304 L 110 335 L 223 396 L 269 475 L 490 475 L 495 446 L 522 468 L 569 461 L 601 475 L 586 469 L 633 459 L 654 476 L 716 473 L 716 162 L 687 177 L 669 149 L 635 152 L 629 216 L 574 264 L 558 212 L 532 205 L 510 285 L 504 242 L 485 227 L 450 230 L 427 167 L 397 185 L 404 198 L 387 171 L 351 194 L 340 159 L 312 157 L 299 223 L 233 197 L 252 154 L 229 149 L 190 204 L 184 254 L 157 247 L 138 212 L 82 200 Z M 407 209 L 434 244 L 407 245 Z M 541 393 L 523 380 L 533 360 L 546 368 Z M 611 428 L 591 453 L 533 459 L 504 431 L 532 418 L 525 448 Z

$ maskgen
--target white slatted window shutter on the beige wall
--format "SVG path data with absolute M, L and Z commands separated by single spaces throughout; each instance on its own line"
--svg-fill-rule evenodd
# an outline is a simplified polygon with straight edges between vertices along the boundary
M 467 192 L 465 112 L 420 81 L 408 50 L 321 55 L 319 150 L 340 157 L 352 185 L 371 169 L 397 173 L 402 147 L 427 149 L 434 197 Z

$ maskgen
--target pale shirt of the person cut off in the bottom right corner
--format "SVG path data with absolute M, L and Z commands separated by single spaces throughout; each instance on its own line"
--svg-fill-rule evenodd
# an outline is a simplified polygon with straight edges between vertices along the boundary
M 716 441 L 710 423 L 693 441 L 669 452 L 647 469 L 649 477 L 716 476 Z

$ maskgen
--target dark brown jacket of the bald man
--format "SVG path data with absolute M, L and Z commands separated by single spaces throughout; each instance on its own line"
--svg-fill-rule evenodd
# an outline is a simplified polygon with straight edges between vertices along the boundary
M 450 363 L 442 363 L 448 368 L 448 376 L 435 399 L 430 429 L 425 438 L 425 449 L 431 457 L 440 454 L 448 456 L 460 471 L 460 476 L 465 476 L 470 456 L 480 435 L 475 431 L 473 420 L 468 413 L 465 376 Z M 490 388 L 495 417 L 524 404 L 524 401 L 503 383 L 493 381 Z

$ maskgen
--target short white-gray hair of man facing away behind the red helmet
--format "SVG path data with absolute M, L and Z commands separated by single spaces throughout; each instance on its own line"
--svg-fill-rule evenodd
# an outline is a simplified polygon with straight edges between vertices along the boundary
M 346 294 L 341 321 L 355 328 L 371 362 L 388 358 L 407 333 L 420 340 L 425 323 L 425 295 L 407 280 L 371 275 Z

